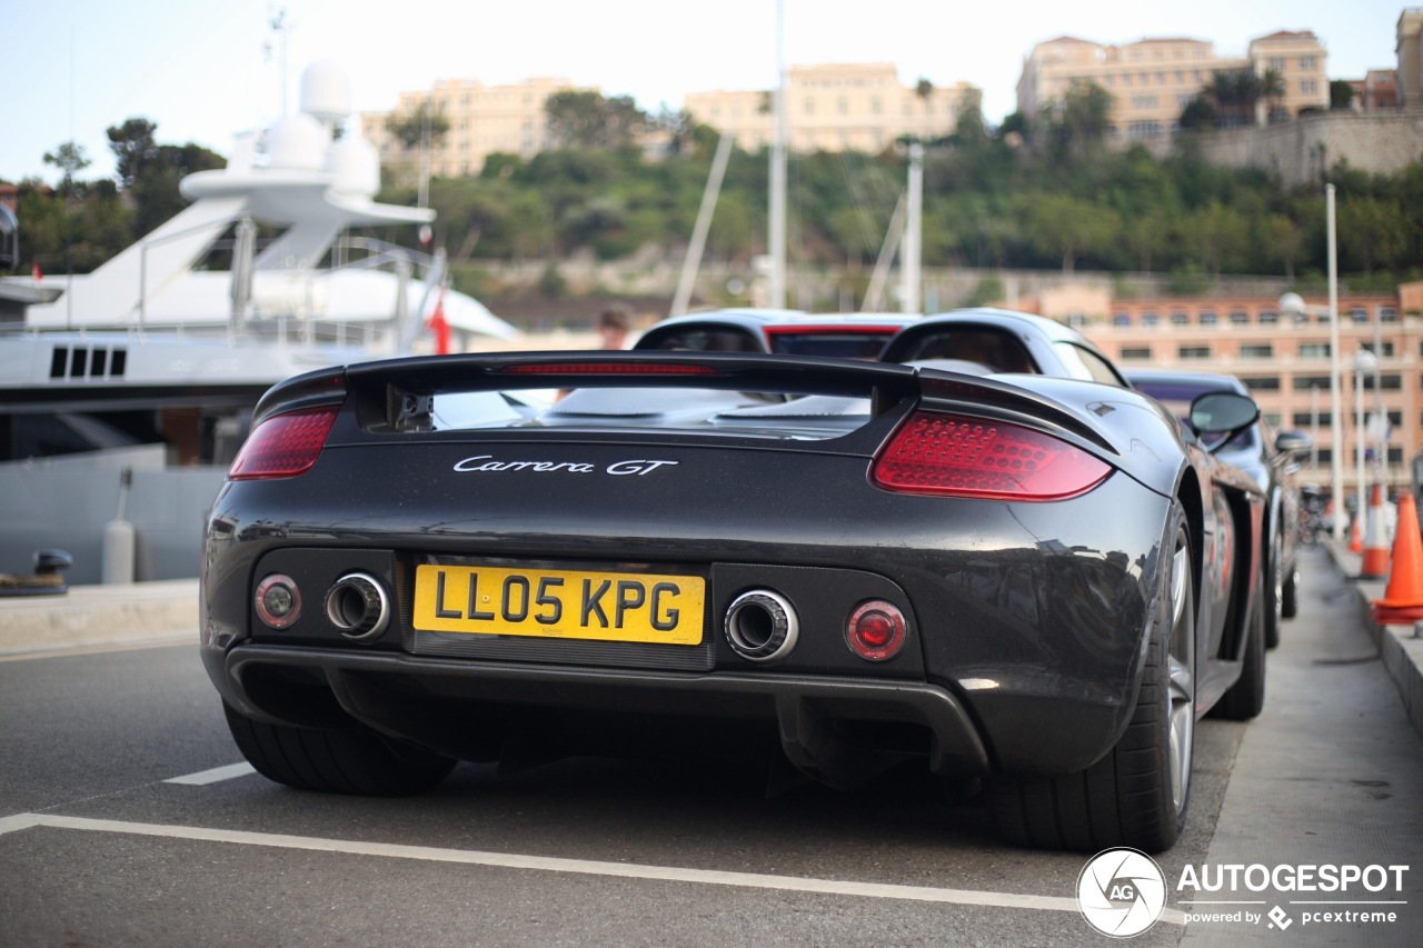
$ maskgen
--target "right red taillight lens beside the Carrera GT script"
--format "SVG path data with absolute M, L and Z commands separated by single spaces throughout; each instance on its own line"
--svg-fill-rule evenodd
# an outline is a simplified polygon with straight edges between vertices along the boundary
M 904 494 L 1050 501 L 1086 494 L 1111 467 L 1017 424 L 915 411 L 875 458 L 869 478 Z

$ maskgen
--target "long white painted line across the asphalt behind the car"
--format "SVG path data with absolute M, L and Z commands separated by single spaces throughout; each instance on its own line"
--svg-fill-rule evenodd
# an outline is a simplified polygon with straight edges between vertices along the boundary
M 578 873 L 582 875 L 610 875 L 618 878 L 647 878 L 702 885 L 737 885 L 788 892 L 824 892 L 861 898 L 902 898 L 919 902 L 952 902 L 956 905 L 989 905 L 995 908 L 1030 908 L 1037 911 L 1076 912 L 1076 898 L 1053 895 L 1020 895 L 1016 892 L 978 892 L 962 888 L 929 888 L 925 885 L 889 885 L 882 883 L 851 883 L 794 875 L 763 875 L 760 873 L 724 873 L 717 870 L 679 868 L 670 865 L 638 865 L 632 863 L 599 863 L 593 860 L 564 860 L 546 855 L 517 855 L 511 853 L 478 853 L 472 850 L 444 850 L 430 846 L 401 846 L 396 843 L 361 843 L 356 840 L 326 840 L 313 836 L 282 836 L 277 833 L 249 833 L 246 830 L 211 830 L 196 826 L 164 826 L 157 823 L 127 823 L 122 820 L 90 820 L 47 813 L 20 813 L 0 817 L 0 836 L 33 827 L 87 830 L 94 833 L 127 833 L 174 840 L 205 843 L 236 843 L 242 846 L 270 846 L 283 850 L 344 853 L 347 855 L 381 855 L 387 858 L 423 860 L 430 863 L 464 863 L 497 868 L 539 870 L 545 873 Z M 1161 912 L 1161 921 L 1184 925 L 1185 914 L 1174 908 Z

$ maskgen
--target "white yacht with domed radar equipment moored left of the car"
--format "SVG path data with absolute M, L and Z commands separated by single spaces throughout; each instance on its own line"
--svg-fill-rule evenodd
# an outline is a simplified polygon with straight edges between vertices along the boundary
M 374 201 L 374 147 L 336 134 L 349 114 L 346 75 L 313 64 L 302 111 L 184 178 L 192 204 L 142 241 L 88 275 L 0 279 L 0 574 L 61 548 L 74 584 L 195 576 L 268 387 L 431 352 L 437 312 L 455 349 L 517 335 L 447 286 L 441 252 L 351 236 L 428 235 L 434 212 Z

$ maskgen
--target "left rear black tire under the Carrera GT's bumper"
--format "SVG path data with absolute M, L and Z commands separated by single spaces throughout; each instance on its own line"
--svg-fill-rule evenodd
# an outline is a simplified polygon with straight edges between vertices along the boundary
M 268 780 L 300 790 L 403 797 L 435 786 L 455 762 L 410 744 L 388 742 L 354 725 L 347 730 L 269 725 L 226 702 L 228 729 L 238 749 Z

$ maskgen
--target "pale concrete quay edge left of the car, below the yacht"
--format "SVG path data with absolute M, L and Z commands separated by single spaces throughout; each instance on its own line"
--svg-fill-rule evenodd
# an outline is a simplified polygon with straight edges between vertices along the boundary
M 0 596 L 0 656 L 181 638 L 198 641 L 196 579 Z

